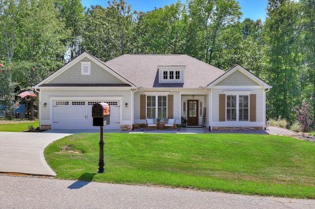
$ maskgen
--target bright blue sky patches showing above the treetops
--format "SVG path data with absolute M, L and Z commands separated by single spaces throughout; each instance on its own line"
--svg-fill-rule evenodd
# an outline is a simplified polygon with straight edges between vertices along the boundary
M 119 0 L 117 0 L 119 1 Z M 137 11 L 150 11 L 155 7 L 160 8 L 165 5 L 171 5 L 176 3 L 177 0 L 125 0 L 128 4 L 131 4 L 132 10 Z M 183 3 L 186 3 L 186 0 L 181 0 Z M 243 12 L 243 19 L 251 18 L 252 20 L 266 19 L 266 7 L 268 0 L 237 0 L 239 5 L 242 7 L 241 11 Z M 107 7 L 108 0 L 82 0 L 83 6 L 89 8 L 91 5 L 101 5 Z

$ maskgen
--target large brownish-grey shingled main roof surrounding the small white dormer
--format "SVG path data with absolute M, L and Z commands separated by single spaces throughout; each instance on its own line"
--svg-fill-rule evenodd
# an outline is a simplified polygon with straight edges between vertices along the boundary
M 224 71 L 184 54 L 124 54 L 104 63 L 137 87 L 206 86 Z M 185 83 L 159 83 L 158 66 L 185 66 Z

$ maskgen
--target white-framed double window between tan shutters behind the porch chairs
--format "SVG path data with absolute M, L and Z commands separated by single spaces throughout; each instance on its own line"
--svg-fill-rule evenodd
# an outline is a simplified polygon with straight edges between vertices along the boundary
M 147 118 L 167 118 L 167 96 L 147 95 Z

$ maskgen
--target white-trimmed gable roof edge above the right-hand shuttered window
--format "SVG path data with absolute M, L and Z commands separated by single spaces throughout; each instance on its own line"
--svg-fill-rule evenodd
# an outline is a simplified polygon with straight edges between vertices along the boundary
M 221 82 L 223 79 L 227 78 L 228 76 L 230 76 L 231 74 L 233 74 L 235 71 L 240 71 L 242 72 L 244 75 L 246 75 L 248 78 L 251 78 L 254 82 L 256 82 L 257 84 L 259 84 L 260 86 L 262 86 L 263 88 L 267 89 L 267 88 L 272 88 L 272 86 L 268 85 L 266 82 L 264 82 L 263 80 L 261 80 L 260 78 L 256 77 L 255 75 L 253 75 L 251 72 L 249 72 L 248 70 L 246 70 L 245 68 L 243 68 L 241 65 L 236 65 L 234 67 L 232 67 L 231 69 L 229 69 L 228 71 L 226 71 L 223 75 L 221 75 L 219 78 L 215 79 L 214 81 L 212 81 L 211 83 L 209 83 L 207 85 L 207 88 L 213 88 L 216 84 L 218 84 L 219 82 Z

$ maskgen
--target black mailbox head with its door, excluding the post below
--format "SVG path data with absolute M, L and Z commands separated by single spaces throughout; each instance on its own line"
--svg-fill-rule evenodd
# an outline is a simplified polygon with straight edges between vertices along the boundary
M 110 107 L 107 103 L 96 103 L 92 106 L 93 126 L 109 125 Z

